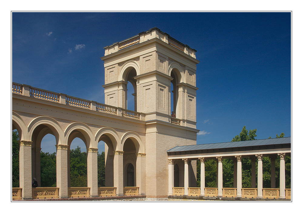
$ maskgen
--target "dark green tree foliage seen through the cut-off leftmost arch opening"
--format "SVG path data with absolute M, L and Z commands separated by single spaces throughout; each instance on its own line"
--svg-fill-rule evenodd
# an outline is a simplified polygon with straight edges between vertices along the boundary
M 12 187 L 19 187 L 19 135 L 12 131 Z

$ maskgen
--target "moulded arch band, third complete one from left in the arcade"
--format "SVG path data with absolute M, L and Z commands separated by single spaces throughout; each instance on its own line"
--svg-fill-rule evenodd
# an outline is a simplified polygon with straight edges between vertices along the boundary
M 95 144 L 94 147 L 98 147 L 99 139 L 102 135 L 106 134 L 112 141 L 114 151 L 122 151 L 121 149 L 121 140 L 118 136 L 118 133 L 111 127 L 102 127 L 98 130 L 95 135 Z

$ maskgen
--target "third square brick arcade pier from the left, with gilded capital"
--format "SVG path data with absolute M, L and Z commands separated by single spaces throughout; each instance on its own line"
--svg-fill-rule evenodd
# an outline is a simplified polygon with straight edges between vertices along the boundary
M 98 148 L 87 151 L 87 187 L 90 197 L 98 197 Z

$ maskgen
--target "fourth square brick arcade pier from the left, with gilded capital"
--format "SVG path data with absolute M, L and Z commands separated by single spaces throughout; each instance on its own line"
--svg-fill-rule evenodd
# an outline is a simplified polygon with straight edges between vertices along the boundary
M 116 187 L 116 195 L 123 196 L 123 152 L 114 151 L 114 187 Z

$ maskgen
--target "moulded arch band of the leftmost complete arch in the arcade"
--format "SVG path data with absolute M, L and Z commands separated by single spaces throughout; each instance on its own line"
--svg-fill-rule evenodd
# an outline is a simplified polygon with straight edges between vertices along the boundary
M 61 125 L 55 119 L 47 116 L 37 117 L 29 123 L 28 125 L 29 140 L 32 141 L 32 136 L 35 128 L 41 124 L 48 126 L 52 130 L 53 134 L 55 134 L 55 137 L 58 138 L 58 144 L 61 144 L 63 142 L 64 133 Z

